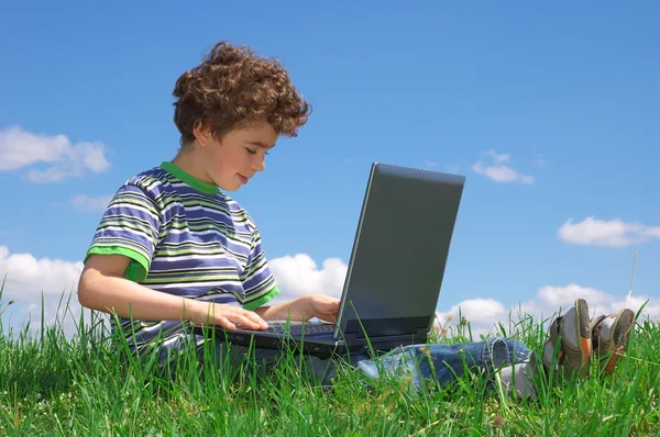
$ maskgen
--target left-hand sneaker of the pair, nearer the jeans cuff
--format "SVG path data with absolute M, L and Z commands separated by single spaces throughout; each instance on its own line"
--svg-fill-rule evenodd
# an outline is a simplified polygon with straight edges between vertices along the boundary
M 574 306 L 550 325 L 550 339 L 543 347 L 543 365 L 547 370 L 560 370 L 565 377 L 574 373 L 585 377 L 591 356 L 588 306 L 585 300 L 576 299 Z

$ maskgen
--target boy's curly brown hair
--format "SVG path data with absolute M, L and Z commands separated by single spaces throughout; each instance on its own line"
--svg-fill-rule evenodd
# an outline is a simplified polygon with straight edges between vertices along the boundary
M 297 136 L 311 112 L 277 60 L 227 42 L 216 44 L 197 67 L 183 74 L 173 94 L 182 146 L 195 139 L 198 123 L 221 137 L 266 120 L 275 132 Z

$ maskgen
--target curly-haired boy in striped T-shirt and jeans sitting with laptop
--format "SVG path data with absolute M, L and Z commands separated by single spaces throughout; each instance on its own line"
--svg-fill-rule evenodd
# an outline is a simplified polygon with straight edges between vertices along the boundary
M 114 194 L 85 259 L 80 303 L 116 312 L 131 350 L 140 354 L 156 347 L 162 361 L 190 336 L 199 348 L 207 341 L 190 333 L 190 323 L 265 329 L 271 320 L 332 321 L 339 301 L 323 294 L 266 305 L 279 290 L 258 229 L 248 212 L 222 192 L 249 183 L 265 169 L 265 155 L 278 137 L 296 136 L 307 122 L 309 104 L 286 70 L 246 47 L 219 43 L 196 68 L 179 77 L 174 96 L 180 149 L 172 161 L 130 178 Z M 588 317 L 582 302 L 556 322 L 556 334 L 561 326 L 570 328 L 549 343 L 554 346 L 563 337 L 572 340 L 564 345 L 562 339 L 559 345 L 570 371 L 591 358 L 592 336 L 585 328 Z M 626 338 L 629 325 L 619 324 Z M 617 346 L 625 345 L 619 337 Z M 257 350 L 257 355 L 272 360 L 276 352 Z M 418 359 L 422 356 L 435 366 Z M 525 374 L 530 351 L 519 341 L 502 338 L 418 345 L 383 357 L 381 370 L 408 369 L 415 383 L 431 376 L 448 382 L 454 373 L 461 374 L 463 356 L 476 368 L 518 365 Z M 329 366 L 311 361 L 315 371 Z M 552 363 L 552 357 L 548 362 Z M 370 377 L 380 377 L 372 357 L 352 357 L 351 363 Z

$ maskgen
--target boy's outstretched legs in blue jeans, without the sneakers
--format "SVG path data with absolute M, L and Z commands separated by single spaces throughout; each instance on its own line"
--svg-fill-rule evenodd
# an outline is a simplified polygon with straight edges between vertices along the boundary
M 217 340 L 215 347 L 210 341 L 204 341 L 197 350 L 200 362 L 210 363 L 204 357 L 211 354 L 215 366 L 219 370 L 229 370 L 230 374 L 235 374 L 239 370 L 257 371 L 263 377 L 282 363 L 279 350 L 250 349 L 227 345 L 222 340 Z M 435 378 L 443 386 L 455 381 L 465 371 L 477 371 L 487 377 L 501 371 L 505 392 L 515 386 L 518 395 L 534 396 L 529 378 L 530 356 L 531 351 L 522 343 L 496 337 L 486 341 L 454 345 L 411 345 L 377 358 L 361 354 L 349 357 L 345 365 L 362 370 L 372 379 L 383 376 L 409 379 L 414 390 L 419 388 L 422 379 Z M 296 357 L 294 361 L 296 366 L 302 365 L 304 368 L 298 370 L 311 377 L 316 384 L 329 386 L 337 376 L 337 362 L 333 359 L 307 356 L 305 360 Z

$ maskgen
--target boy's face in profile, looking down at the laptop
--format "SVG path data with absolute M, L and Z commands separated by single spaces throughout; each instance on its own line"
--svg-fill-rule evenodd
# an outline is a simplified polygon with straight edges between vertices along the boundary
M 278 136 L 266 122 L 230 131 L 221 138 L 196 130 L 205 154 L 205 179 L 224 191 L 237 191 L 265 169 L 266 152 L 275 146 Z

